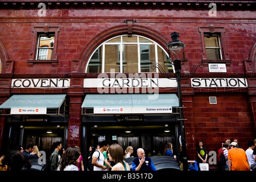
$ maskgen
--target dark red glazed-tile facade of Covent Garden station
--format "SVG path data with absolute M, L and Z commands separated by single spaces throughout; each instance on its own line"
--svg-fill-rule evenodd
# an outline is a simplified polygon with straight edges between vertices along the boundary
M 140 122 L 133 118 L 131 122 L 122 123 L 122 114 L 117 114 L 117 118 L 116 114 L 111 114 L 111 122 L 107 122 L 105 118 L 99 119 L 101 114 L 98 119 L 97 114 L 96 118 L 84 115 L 82 103 L 86 95 L 98 94 L 97 87 L 85 87 L 84 84 L 86 79 L 97 78 L 102 73 L 88 71 L 89 61 L 97 50 L 101 52 L 103 47 L 104 51 L 107 50 L 109 40 L 122 36 L 124 41 L 126 37 L 134 36 L 139 40 L 148 39 L 159 48 L 157 50 L 162 48 L 167 52 L 166 45 L 174 31 L 179 32 L 180 40 L 186 44 L 188 61 L 182 66 L 181 75 L 185 77 L 191 72 L 197 61 L 204 64 L 204 68 L 197 69 L 192 78 L 181 81 L 189 157 L 196 158 L 195 148 L 199 140 L 203 140 L 208 151 L 217 151 L 222 140 L 237 138 L 246 149 L 247 142 L 255 139 L 256 1 L 214 1 L 212 5 L 210 1 L 193 0 L 40 2 L 40 5 L 39 1 L 0 2 L 0 104 L 14 95 L 64 94 L 65 117 L 60 119 L 58 113 L 57 117 L 55 115 L 57 119 L 53 119 L 48 110 L 43 117 L 10 114 L 9 110 L 2 108 L 0 151 L 18 144 L 24 146 L 29 141 L 38 143 L 40 150 L 46 150 L 43 145 L 47 146 L 56 139 L 61 140 L 65 147 L 80 146 L 87 155 L 88 147 L 95 145 L 98 139 L 91 134 L 98 132 L 109 142 L 115 140 L 109 135 L 113 133 L 124 148 L 134 144 L 134 148 L 148 147 L 147 154 L 162 152 L 166 140 L 177 141 L 179 134 L 175 132 L 179 129 L 179 122 L 176 119 L 158 119 L 161 114 L 155 114 L 156 119 L 151 122 L 153 119 L 147 120 L 144 114 Z M 39 36 L 43 38 L 39 39 Z M 54 40 L 50 40 L 52 36 Z M 48 39 L 52 41 L 51 45 L 38 46 L 40 41 Z M 138 43 L 141 46 L 139 51 L 146 45 L 146 42 L 142 43 Z M 102 49 L 101 45 L 104 45 Z M 126 44 L 123 45 L 116 50 L 125 50 Z M 122 73 L 127 77 L 129 73 L 144 73 L 149 77 L 151 71 L 142 71 L 142 55 L 152 53 L 145 50 L 139 52 L 141 71 Z M 209 51 L 216 57 L 208 57 Z M 51 59 L 40 58 L 46 52 L 51 52 Z M 155 49 L 155 52 L 158 51 Z M 125 60 L 126 55 L 119 53 L 119 57 Z M 105 64 L 108 64 L 107 60 Z M 122 64 L 125 70 L 125 61 Z M 91 65 L 92 69 L 98 68 L 98 63 Z M 117 75 L 118 71 L 115 72 Z M 160 74 L 158 76 L 163 78 Z M 175 73 L 170 72 L 168 76 L 175 78 Z M 64 86 L 66 81 L 68 86 Z M 59 82 L 58 86 L 56 82 Z M 159 94 L 176 92 L 175 87 L 159 86 Z M 115 94 L 118 93 L 115 91 Z M 142 94 L 142 87 L 139 94 Z M 138 117 L 143 113 L 135 115 Z M 171 134 L 163 133 L 166 124 L 171 127 Z M 132 133 L 133 129 L 137 128 L 137 131 L 123 134 L 126 127 L 132 129 Z M 46 135 L 44 130 L 53 133 Z M 47 137 L 51 142 L 44 144 Z M 174 147 L 179 148 L 177 143 Z

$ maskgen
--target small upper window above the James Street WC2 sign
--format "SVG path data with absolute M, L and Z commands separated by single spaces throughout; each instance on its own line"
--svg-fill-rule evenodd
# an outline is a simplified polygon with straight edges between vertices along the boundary
M 216 34 L 204 34 L 204 44 L 207 59 L 220 60 L 222 59 L 220 38 Z

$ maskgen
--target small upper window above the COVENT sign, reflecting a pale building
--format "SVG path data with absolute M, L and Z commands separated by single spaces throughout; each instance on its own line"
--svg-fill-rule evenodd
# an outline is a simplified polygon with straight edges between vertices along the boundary
M 54 35 L 38 36 L 38 48 L 36 53 L 37 60 L 52 60 L 54 38 Z

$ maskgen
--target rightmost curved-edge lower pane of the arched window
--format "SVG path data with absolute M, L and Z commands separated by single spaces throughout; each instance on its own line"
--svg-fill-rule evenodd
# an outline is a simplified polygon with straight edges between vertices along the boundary
M 162 66 L 164 72 L 166 73 L 174 73 L 174 69 L 172 67 L 171 61 L 169 60 L 166 53 L 162 48 L 158 46 L 158 63 Z

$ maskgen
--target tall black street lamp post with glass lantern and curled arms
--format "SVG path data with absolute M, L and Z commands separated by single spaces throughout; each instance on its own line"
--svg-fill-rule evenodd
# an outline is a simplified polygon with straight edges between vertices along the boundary
M 184 114 L 183 114 L 183 100 L 182 100 L 182 93 L 181 93 L 181 65 L 184 64 L 185 61 L 185 52 L 184 47 L 186 46 L 185 43 L 179 40 L 179 33 L 173 32 L 171 34 L 172 41 L 167 44 L 168 48 L 168 56 L 171 61 L 171 64 L 175 67 L 176 73 L 176 81 L 177 81 L 177 96 L 179 98 L 179 121 L 180 121 L 180 135 L 181 135 L 181 147 L 183 152 L 183 169 L 184 171 L 188 171 L 188 160 L 187 160 L 187 142 L 185 138 L 185 127 L 184 127 Z M 182 51 L 182 52 L 181 52 Z M 171 79 L 168 75 L 163 71 L 163 68 L 158 63 L 152 63 L 151 67 L 154 69 L 158 67 L 160 73 L 166 78 Z M 187 75 L 187 78 L 191 77 L 195 72 L 196 69 L 200 67 L 203 68 L 204 65 L 201 61 L 197 62 L 193 65 L 191 69 L 191 73 Z

